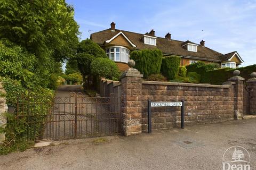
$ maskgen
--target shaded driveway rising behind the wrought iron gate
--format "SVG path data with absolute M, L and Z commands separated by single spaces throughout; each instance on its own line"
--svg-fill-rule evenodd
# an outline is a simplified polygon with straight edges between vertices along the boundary
M 83 96 L 70 97 L 70 92 Z M 60 140 L 75 137 L 92 137 L 119 132 L 120 113 L 114 113 L 109 98 L 92 98 L 83 92 L 81 85 L 59 86 L 43 140 Z M 77 124 L 75 121 L 77 120 Z

